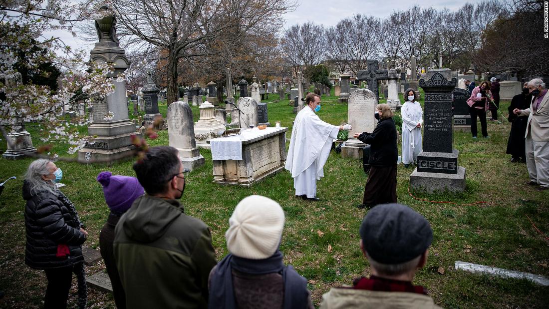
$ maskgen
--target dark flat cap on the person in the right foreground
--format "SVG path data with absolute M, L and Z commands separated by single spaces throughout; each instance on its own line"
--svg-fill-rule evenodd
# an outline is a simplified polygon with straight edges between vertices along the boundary
M 401 204 L 373 207 L 364 217 L 359 233 L 368 256 L 383 264 L 411 261 L 433 242 L 427 219 Z

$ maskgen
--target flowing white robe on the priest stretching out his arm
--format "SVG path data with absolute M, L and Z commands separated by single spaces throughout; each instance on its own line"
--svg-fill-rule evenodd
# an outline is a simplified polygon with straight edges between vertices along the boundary
M 320 120 L 309 106 L 295 116 L 285 165 L 294 178 L 295 195 L 316 196 L 316 181 L 324 177 L 323 167 L 338 132 L 338 126 Z

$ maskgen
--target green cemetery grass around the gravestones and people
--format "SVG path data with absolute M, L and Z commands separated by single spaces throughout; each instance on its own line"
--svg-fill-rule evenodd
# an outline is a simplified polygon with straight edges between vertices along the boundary
M 333 93 L 333 92 L 332 92 Z M 271 94 L 269 100 L 278 98 Z M 384 102 L 382 99 L 381 102 Z M 268 104 L 271 123 L 281 121 L 291 130 L 292 106 L 288 100 Z M 347 119 L 347 105 L 337 103 L 333 95 L 322 98 L 322 120 L 338 125 Z M 334 105 L 330 105 L 334 104 Z M 502 102 L 507 110 L 509 102 Z M 198 108 L 192 106 L 194 120 Z M 166 105 L 160 105 L 165 115 Z M 412 194 L 421 199 L 452 201 L 457 204 L 428 203 L 408 194 L 412 169 L 399 165 L 397 170 L 397 196 L 399 203 L 410 205 L 432 224 L 433 244 L 425 268 L 414 280 L 424 285 L 436 304 L 447 308 L 546 308 L 549 288 L 526 280 L 500 279 L 493 276 L 455 271 L 455 261 L 479 263 L 494 267 L 541 274 L 549 277 L 549 242 L 531 225 L 528 215 L 537 228 L 549 235 L 549 192 L 536 192 L 524 183 L 528 173 L 524 164 L 511 164 L 505 154 L 510 125 L 490 122 L 490 139 L 475 141 L 470 132 L 455 132 L 454 145 L 460 150 L 459 164 L 467 168 L 467 189 L 463 193 Z M 287 137 L 290 136 L 290 131 Z M 167 132 L 160 131 L 152 145 L 167 144 Z M 40 145 L 35 141 L 35 146 Z M 3 146 L 5 147 L 5 145 Z M 399 147 L 400 148 L 400 147 Z M 64 145 L 55 145 L 63 150 Z M 245 196 L 261 194 L 278 201 L 286 213 L 281 250 L 285 262 L 291 263 L 300 274 L 314 280 L 309 284 L 313 302 L 320 304 L 321 296 L 332 286 L 350 284 L 352 278 L 370 272 L 368 262 L 358 248 L 358 227 L 365 210 L 355 207 L 361 203 L 366 176 L 361 162 L 330 154 L 324 177 L 318 182 L 319 203 L 295 199 L 293 181 L 288 172 L 280 172 L 250 188 L 220 186 L 212 183 L 212 161 L 209 150 L 201 149 L 206 164 L 188 176 L 182 198 L 186 212 L 203 220 L 211 228 L 216 255 L 227 254 L 225 231 L 234 207 Z M 31 159 L 20 161 L 0 160 L 0 178 L 15 175 L 0 196 L 0 290 L 6 294 L 0 307 L 38 308 L 41 306 L 46 279 L 43 272 L 25 266 L 25 226 L 21 198 L 21 184 L 25 168 Z M 88 246 L 97 248 L 99 231 L 107 220 L 109 210 L 95 177 L 109 170 L 120 175 L 134 175 L 130 160 L 113 166 L 80 165 L 58 162 L 63 168 L 63 191 L 75 203 L 80 217 L 88 226 Z M 488 201 L 485 204 L 461 205 Z M 317 231 L 324 234 L 320 237 Z M 328 245 L 332 251 L 328 252 Z M 438 267 L 444 274 L 436 272 Z M 104 265 L 88 267 L 92 274 Z M 112 297 L 89 289 L 91 307 L 113 307 Z M 75 305 L 73 287 L 70 304 Z

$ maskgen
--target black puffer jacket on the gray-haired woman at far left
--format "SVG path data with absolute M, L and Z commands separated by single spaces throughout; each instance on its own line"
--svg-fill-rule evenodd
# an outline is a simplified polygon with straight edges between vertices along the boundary
M 70 266 L 82 262 L 81 245 L 86 236 L 80 232 L 76 218 L 71 215 L 68 205 L 51 192 L 32 195 L 29 184 L 23 183 L 25 206 L 25 226 L 27 244 L 25 263 L 32 268 L 46 269 Z M 68 257 L 57 257 L 57 246 L 69 247 Z

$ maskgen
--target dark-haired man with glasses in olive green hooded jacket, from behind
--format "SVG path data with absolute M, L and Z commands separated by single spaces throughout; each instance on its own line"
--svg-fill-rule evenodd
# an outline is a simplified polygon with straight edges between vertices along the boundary
M 114 256 L 128 308 L 207 308 L 216 265 L 210 230 L 187 216 L 177 150 L 153 147 L 133 165 L 145 189 L 115 229 Z

